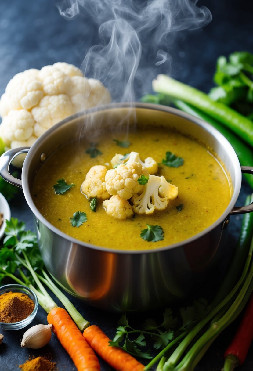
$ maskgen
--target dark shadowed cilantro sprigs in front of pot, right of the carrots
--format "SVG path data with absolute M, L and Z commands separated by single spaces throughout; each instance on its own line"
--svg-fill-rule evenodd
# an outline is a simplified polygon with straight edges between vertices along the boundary
M 153 343 L 153 348 L 159 350 L 159 353 L 146 365 L 145 370 L 149 370 L 162 355 L 170 354 L 174 346 L 185 338 L 209 311 L 210 306 L 206 299 L 200 298 L 191 306 L 179 308 L 179 317 L 174 316 L 170 308 L 166 308 L 160 325 L 154 319 L 147 318 L 144 324 L 140 325 L 140 329 L 132 327 L 124 314 L 119 319 L 116 334 L 109 344 L 124 349 L 134 357 L 151 359 L 149 348 Z

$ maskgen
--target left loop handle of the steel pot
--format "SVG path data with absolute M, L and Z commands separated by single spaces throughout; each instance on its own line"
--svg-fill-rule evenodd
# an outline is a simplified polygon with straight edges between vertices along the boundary
M 22 188 L 22 180 L 13 177 L 10 174 L 10 163 L 12 160 L 22 153 L 27 153 L 30 147 L 13 148 L 12 150 L 4 152 L 0 157 L 0 175 L 7 182 Z

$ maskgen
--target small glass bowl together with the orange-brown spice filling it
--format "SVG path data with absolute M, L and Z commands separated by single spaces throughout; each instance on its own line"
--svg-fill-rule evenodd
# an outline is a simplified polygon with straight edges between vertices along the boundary
M 37 309 L 37 296 L 28 287 L 10 284 L 0 288 L 0 328 L 14 330 L 27 326 Z

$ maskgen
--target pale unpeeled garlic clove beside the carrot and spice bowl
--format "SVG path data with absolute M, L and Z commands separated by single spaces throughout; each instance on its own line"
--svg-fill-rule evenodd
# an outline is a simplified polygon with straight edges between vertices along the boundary
M 23 335 L 21 347 L 39 349 L 45 347 L 52 336 L 53 325 L 35 325 L 30 327 Z

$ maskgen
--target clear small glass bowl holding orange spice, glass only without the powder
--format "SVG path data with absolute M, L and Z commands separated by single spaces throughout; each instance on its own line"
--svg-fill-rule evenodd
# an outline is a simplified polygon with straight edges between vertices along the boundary
M 36 294 L 33 292 L 33 290 L 23 285 L 17 285 L 16 283 L 11 283 L 9 285 L 4 285 L 0 287 L 0 295 L 5 292 L 9 292 L 9 291 L 25 293 L 34 302 L 34 309 L 32 313 L 28 317 L 23 319 L 22 321 L 12 322 L 12 323 L 0 322 L 0 328 L 3 330 L 19 330 L 29 325 L 29 323 L 32 322 L 32 320 L 36 316 L 38 306 L 39 306 L 38 299 L 37 299 Z

